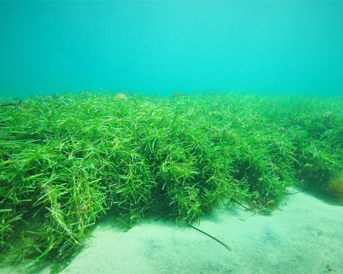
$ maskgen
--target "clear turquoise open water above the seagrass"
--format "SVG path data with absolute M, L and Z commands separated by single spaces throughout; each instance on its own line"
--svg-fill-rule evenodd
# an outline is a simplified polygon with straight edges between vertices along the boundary
M 343 1 L 0 2 L 0 95 L 340 95 Z

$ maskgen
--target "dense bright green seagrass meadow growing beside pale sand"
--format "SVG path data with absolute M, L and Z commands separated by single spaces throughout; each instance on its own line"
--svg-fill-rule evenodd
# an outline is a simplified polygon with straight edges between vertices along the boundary
M 63 269 L 108 212 L 195 225 L 268 213 L 288 186 L 343 196 L 343 99 L 47 95 L 0 108 L 1 260 Z

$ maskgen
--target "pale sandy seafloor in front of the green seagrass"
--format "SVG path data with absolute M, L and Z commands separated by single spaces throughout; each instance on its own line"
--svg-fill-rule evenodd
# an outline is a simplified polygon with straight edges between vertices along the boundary
M 304 192 L 287 195 L 268 216 L 219 208 L 199 228 L 232 251 L 171 221 L 147 219 L 128 232 L 103 221 L 61 273 L 343 273 L 343 207 Z

